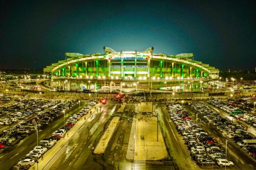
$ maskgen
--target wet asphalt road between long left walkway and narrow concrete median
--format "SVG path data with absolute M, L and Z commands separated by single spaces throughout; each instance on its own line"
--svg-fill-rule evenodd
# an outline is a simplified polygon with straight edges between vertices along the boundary
M 65 154 L 54 162 L 51 169 L 103 169 L 108 166 L 97 160 L 97 155 L 92 154 L 92 149 L 97 145 L 115 109 L 116 105 L 106 104 L 100 112 L 94 113 L 72 136 Z

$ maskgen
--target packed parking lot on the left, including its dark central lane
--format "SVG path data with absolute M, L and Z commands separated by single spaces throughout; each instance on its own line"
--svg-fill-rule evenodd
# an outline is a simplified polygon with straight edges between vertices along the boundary
M 84 104 L 79 101 L 20 99 L 4 106 L 0 162 L 6 163 L 0 169 L 10 169 L 15 164 L 26 169 L 35 164 L 96 103 Z

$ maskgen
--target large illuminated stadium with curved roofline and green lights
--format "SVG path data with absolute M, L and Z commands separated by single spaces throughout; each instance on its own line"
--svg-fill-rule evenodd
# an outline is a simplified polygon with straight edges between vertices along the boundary
M 104 53 L 91 55 L 65 53 L 66 59 L 44 68 L 56 90 L 108 91 L 200 89 L 207 81 L 217 80 L 219 70 L 194 60 L 193 53 L 166 55 L 121 51 L 104 46 Z

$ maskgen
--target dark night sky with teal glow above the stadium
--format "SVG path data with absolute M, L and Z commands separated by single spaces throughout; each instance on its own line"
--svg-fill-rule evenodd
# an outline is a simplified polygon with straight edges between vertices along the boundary
M 1 1 L 0 69 L 43 69 L 65 52 L 195 53 L 221 70 L 256 66 L 256 1 Z

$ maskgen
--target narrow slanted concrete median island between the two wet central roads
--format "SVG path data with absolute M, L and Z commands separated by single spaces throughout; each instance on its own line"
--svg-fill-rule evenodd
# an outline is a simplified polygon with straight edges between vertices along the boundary
M 116 127 L 118 126 L 118 121 L 120 117 L 114 117 L 110 124 L 108 125 L 108 129 L 104 132 L 102 138 L 100 138 L 100 141 L 98 145 L 95 147 L 95 150 L 93 150 L 93 153 L 101 154 L 104 153 L 106 148 L 108 147 L 109 140 L 113 136 Z

